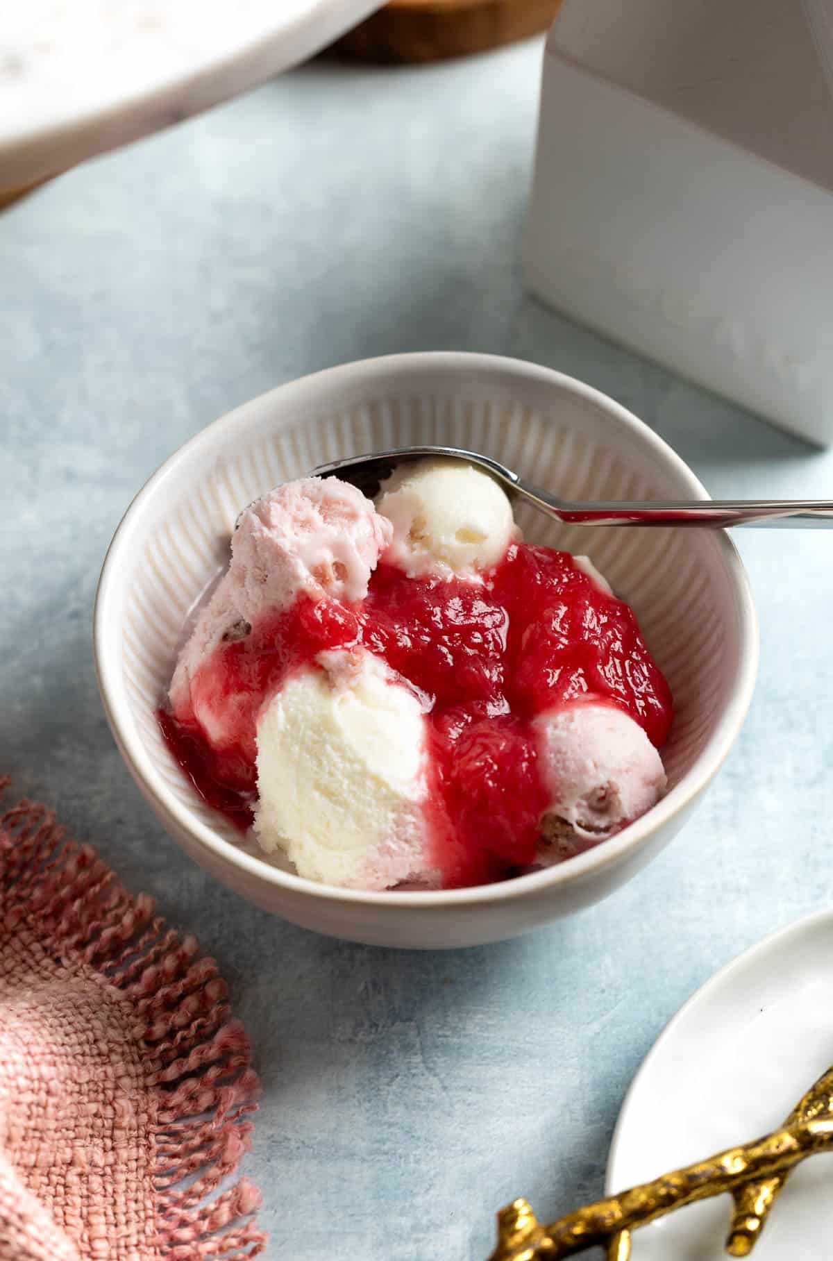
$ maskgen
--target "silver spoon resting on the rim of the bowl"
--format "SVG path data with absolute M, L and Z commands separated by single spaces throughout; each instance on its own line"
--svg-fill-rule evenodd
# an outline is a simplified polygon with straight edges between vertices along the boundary
M 524 499 L 562 525 L 581 526 L 833 526 L 833 502 L 824 499 L 689 499 L 667 503 L 571 503 L 522 480 L 488 455 L 456 446 L 401 446 L 350 455 L 313 469 L 310 477 L 339 477 L 368 498 L 378 494 L 397 465 L 430 456 L 465 460 L 490 473 L 510 499 Z

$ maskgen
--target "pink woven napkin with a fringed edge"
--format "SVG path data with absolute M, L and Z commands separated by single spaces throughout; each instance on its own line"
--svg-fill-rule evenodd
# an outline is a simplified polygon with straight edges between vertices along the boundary
M 0 784 L 0 787 L 3 787 Z M 43 807 L 0 818 L 0 1261 L 239 1261 L 257 1078 L 192 937 Z

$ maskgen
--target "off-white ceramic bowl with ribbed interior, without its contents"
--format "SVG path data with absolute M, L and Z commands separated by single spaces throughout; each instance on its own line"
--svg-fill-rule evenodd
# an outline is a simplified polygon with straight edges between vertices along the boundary
M 586 552 L 636 610 L 670 682 L 669 792 L 619 836 L 560 866 L 474 889 L 363 893 L 304 880 L 241 845 L 197 797 L 155 709 L 181 627 L 224 565 L 239 509 L 342 455 L 418 443 L 497 456 L 576 499 L 706 498 L 694 474 L 618 404 L 547 368 L 481 354 L 403 354 L 330 368 L 238 407 L 187 443 L 134 499 L 107 552 L 95 614 L 102 700 L 154 811 L 223 884 L 294 923 L 384 946 L 499 941 L 616 889 L 674 836 L 746 715 L 757 624 L 721 531 L 557 528 L 518 512 L 526 537 Z

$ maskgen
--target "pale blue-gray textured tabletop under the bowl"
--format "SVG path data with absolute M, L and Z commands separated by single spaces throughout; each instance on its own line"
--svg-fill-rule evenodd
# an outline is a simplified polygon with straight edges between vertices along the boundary
M 268 1257 L 480 1261 L 513 1197 L 551 1217 L 600 1193 L 669 1016 L 829 898 L 825 532 L 737 535 L 760 678 L 699 813 L 615 897 L 502 946 L 372 950 L 255 910 L 165 836 L 105 723 L 92 601 L 130 498 L 215 416 L 331 363 L 534 359 L 635 411 L 712 494 L 829 494 L 833 455 L 524 295 L 539 59 L 319 62 L 0 217 L 0 769 L 221 961 L 265 1087 Z

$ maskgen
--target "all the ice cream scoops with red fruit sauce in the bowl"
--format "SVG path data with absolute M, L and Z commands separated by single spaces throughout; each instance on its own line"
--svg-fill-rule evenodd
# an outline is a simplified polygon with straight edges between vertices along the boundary
M 526 543 L 504 489 L 403 463 L 376 504 L 285 482 L 237 520 L 159 721 L 208 805 L 302 876 L 508 879 L 665 788 L 670 691 L 586 556 Z

